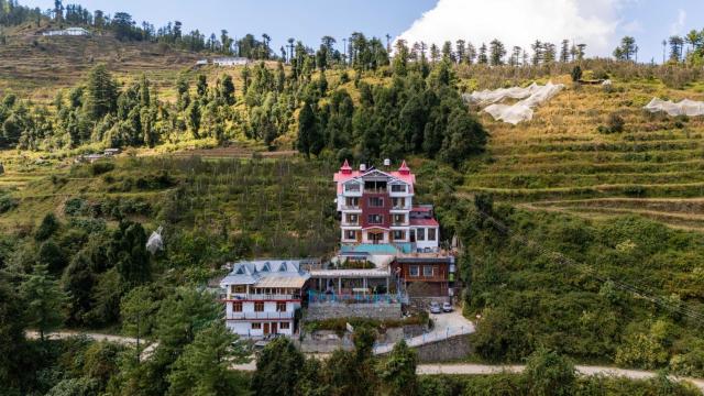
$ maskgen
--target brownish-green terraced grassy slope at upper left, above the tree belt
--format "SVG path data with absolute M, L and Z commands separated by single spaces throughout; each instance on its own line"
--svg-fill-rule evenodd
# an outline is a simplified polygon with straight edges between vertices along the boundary
M 193 68 L 204 55 L 167 45 L 121 42 L 109 34 L 42 36 L 41 29 L 8 29 L 0 45 L 0 96 L 13 91 L 22 98 L 51 102 L 56 89 L 81 81 L 96 64 L 103 63 L 119 80 L 144 73 L 157 88 L 172 88 L 179 70 Z

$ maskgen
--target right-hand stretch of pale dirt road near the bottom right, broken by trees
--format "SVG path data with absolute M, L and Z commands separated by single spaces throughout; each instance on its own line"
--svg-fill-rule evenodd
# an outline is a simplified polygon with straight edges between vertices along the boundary
M 657 372 L 627 370 L 607 366 L 576 365 L 576 371 L 582 375 L 610 375 L 622 376 L 630 380 L 647 380 L 658 375 Z M 487 365 L 487 364 L 419 364 L 417 373 L 419 375 L 437 374 L 459 374 L 459 375 L 487 375 L 501 373 L 521 373 L 525 365 Z M 680 376 L 670 376 L 674 381 L 689 381 L 704 392 L 704 380 L 695 380 Z

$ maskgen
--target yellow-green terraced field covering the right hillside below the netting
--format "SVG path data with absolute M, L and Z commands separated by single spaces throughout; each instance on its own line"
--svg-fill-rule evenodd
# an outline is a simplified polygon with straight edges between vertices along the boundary
M 704 100 L 700 87 L 666 88 L 657 80 L 568 89 L 513 127 L 482 116 L 487 155 L 473 164 L 463 191 L 532 210 L 588 218 L 639 215 L 704 231 L 704 117 L 672 118 L 641 108 L 652 97 Z M 601 133 L 610 113 L 620 133 Z

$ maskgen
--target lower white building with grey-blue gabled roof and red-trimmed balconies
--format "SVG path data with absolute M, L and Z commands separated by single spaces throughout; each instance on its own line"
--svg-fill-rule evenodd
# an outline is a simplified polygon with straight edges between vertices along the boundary
M 227 326 L 243 337 L 293 336 L 310 275 L 300 261 L 240 262 L 220 282 Z

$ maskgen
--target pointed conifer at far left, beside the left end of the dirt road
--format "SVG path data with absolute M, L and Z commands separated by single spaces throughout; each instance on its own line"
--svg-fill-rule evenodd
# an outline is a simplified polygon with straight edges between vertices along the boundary
M 44 334 L 63 324 L 66 295 L 45 264 L 35 264 L 32 274 L 20 285 L 20 295 L 26 304 L 26 323 Z

